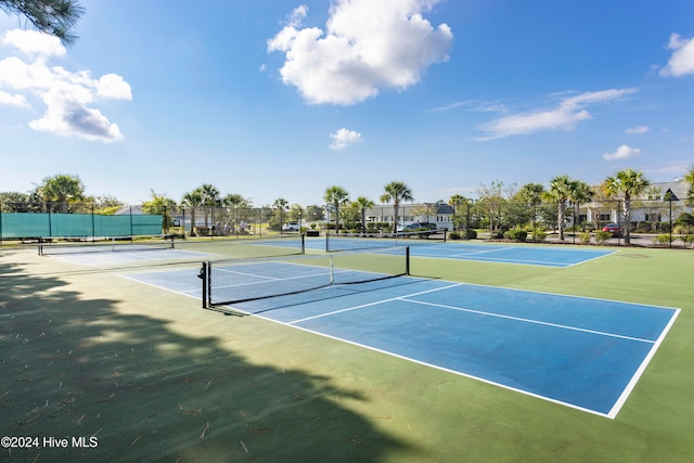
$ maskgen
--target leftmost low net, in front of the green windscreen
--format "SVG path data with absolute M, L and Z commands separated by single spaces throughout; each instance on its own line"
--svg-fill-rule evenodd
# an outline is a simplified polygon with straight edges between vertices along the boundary
M 174 239 L 165 235 L 156 236 L 113 236 L 89 240 L 47 239 L 48 243 L 39 243 L 40 256 L 83 253 L 110 253 L 172 249 Z M 43 241 L 43 240 L 41 240 Z

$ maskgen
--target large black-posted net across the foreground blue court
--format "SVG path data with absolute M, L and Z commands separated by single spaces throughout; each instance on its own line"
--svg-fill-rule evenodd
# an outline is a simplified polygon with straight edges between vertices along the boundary
M 203 262 L 203 307 L 286 296 L 410 273 L 410 248 Z

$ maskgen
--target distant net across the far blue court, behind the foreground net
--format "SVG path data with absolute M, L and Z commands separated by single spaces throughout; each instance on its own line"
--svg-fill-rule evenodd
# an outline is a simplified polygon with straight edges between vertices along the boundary
M 398 233 L 325 234 L 325 252 L 358 250 L 388 246 L 417 246 L 446 241 L 446 230 L 425 230 Z

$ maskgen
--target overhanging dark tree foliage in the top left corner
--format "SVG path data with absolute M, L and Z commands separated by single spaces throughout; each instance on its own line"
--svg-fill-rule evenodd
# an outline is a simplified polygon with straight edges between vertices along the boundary
M 37 30 L 57 37 L 66 46 L 77 38 L 72 30 L 85 13 L 76 0 L 0 0 L 0 10 L 26 17 Z

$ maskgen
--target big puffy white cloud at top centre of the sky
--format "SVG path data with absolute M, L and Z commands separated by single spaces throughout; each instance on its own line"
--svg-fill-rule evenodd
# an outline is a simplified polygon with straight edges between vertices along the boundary
M 351 105 L 381 89 L 403 90 L 448 60 L 451 29 L 423 16 L 439 1 L 335 0 L 325 30 L 303 26 L 301 5 L 268 40 L 268 52 L 285 54 L 282 81 L 312 104 Z

